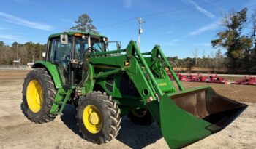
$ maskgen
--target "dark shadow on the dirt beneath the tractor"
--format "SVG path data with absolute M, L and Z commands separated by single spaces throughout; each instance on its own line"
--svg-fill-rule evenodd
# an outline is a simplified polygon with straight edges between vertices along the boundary
M 80 134 L 78 126 L 76 125 L 76 110 L 73 105 L 66 105 L 63 111 L 64 115 L 61 116 L 61 121 L 66 124 L 75 134 Z M 116 140 L 124 143 L 130 148 L 144 148 L 157 140 L 162 138 L 161 130 L 157 124 L 151 124 L 148 126 L 140 126 L 133 124 L 129 121 L 127 116 L 122 117 L 121 130 L 119 131 Z

